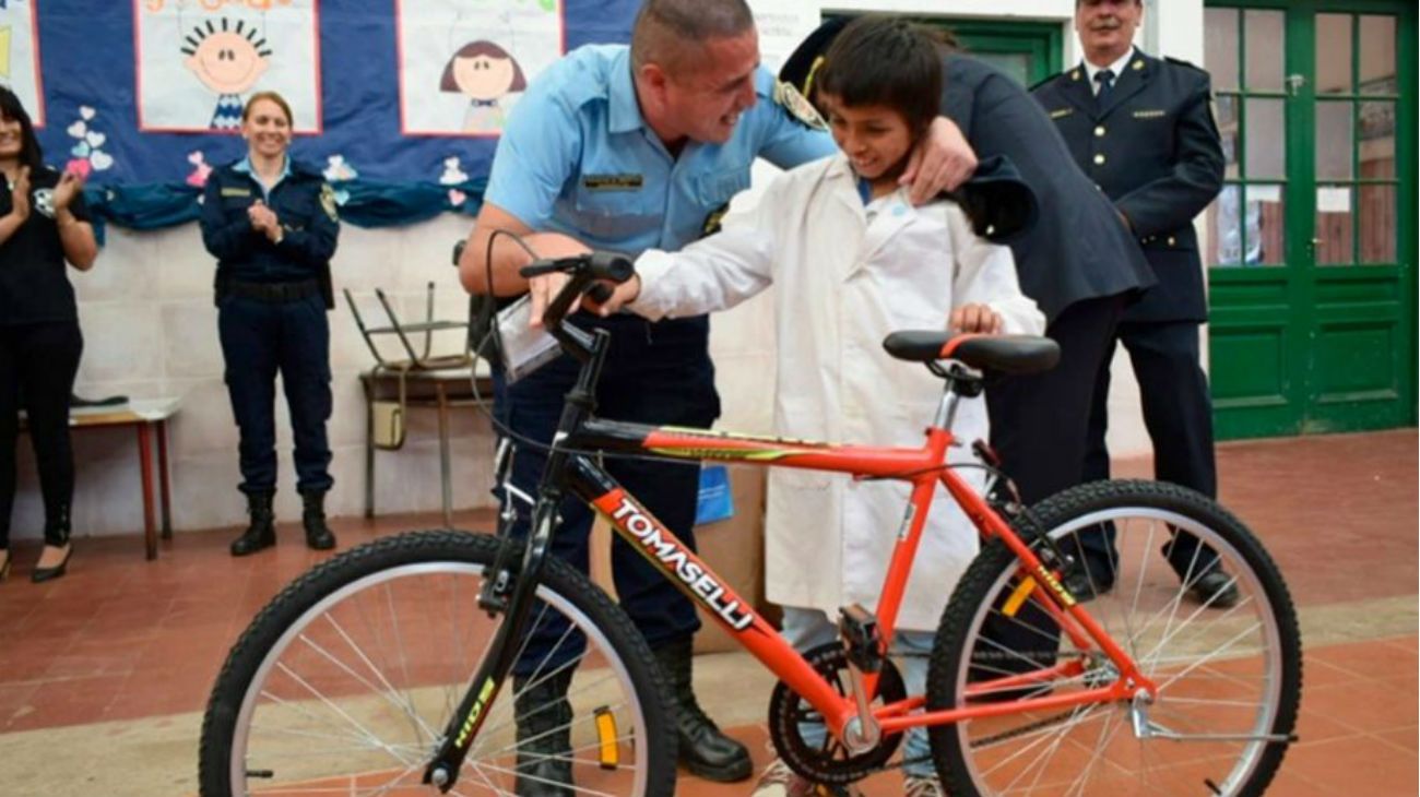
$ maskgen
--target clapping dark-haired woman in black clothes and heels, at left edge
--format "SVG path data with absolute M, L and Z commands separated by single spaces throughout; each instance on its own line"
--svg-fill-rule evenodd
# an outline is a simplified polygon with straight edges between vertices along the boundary
M 64 574 L 70 562 L 70 391 L 80 367 L 74 286 L 64 261 L 88 271 L 98 255 L 80 189 L 84 179 L 45 169 L 34 126 L 10 89 L 0 88 L 0 579 L 10 570 L 14 445 L 23 393 L 44 494 L 44 553 L 33 581 Z

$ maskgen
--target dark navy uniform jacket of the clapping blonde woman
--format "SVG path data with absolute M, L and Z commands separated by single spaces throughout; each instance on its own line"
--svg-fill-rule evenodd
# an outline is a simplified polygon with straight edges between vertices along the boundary
M 266 203 L 281 223 L 280 244 L 251 230 L 247 208 Z M 251 174 L 247 160 L 216 169 L 202 200 L 202 241 L 217 258 L 217 291 L 224 281 L 301 282 L 321 279 L 331 306 L 329 260 L 335 254 L 339 217 L 335 196 L 320 172 L 287 159 L 287 173 L 270 194 Z

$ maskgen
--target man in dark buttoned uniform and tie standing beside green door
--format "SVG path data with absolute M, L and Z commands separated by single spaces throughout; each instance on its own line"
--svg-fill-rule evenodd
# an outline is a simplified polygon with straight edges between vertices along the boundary
M 1076 0 L 1075 30 L 1085 61 L 1032 92 L 1075 162 L 1113 200 L 1159 278 L 1125 312 L 1116 333 L 1139 379 L 1156 478 L 1214 496 L 1211 403 L 1198 364 L 1198 325 L 1207 319 L 1207 301 L 1193 218 L 1223 186 L 1223 147 L 1208 74 L 1135 50 L 1142 18 L 1140 0 Z M 1092 479 L 1109 476 L 1109 363 L 1106 356 L 1091 414 L 1086 476 Z M 1083 540 L 1091 570 L 1112 572 L 1108 553 L 1092 547 L 1098 542 Z M 1216 554 L 1198 550 L 1196 537 L 1177 535 L 1166 553 L 1174 570 L 1190 579 L 1194 598 L 1211 597 L 1216 607 L 1237 601 L 1237 589 Z

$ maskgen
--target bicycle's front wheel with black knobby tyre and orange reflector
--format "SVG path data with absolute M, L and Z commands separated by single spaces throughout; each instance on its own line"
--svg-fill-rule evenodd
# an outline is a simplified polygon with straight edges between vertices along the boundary
M 440 794 L 422 783 L 506 615 L 477 606 L 498 542 L 415 532 L 349 550 L 277 596 L 233 648 L 203 719 L 203 797 Z M 450 794 L 662 796 L 663 676 L 629 618 L 548 559 Z

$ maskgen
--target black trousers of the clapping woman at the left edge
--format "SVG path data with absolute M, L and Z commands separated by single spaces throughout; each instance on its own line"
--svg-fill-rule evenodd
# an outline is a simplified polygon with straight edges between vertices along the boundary
M 0 549 L 10 547 L 21 408 L 44 495 L 44 542 L 68 542 L 74 498 L 70 397 L 82 352 L 84 335 L 74 321 L 0 326 Z

